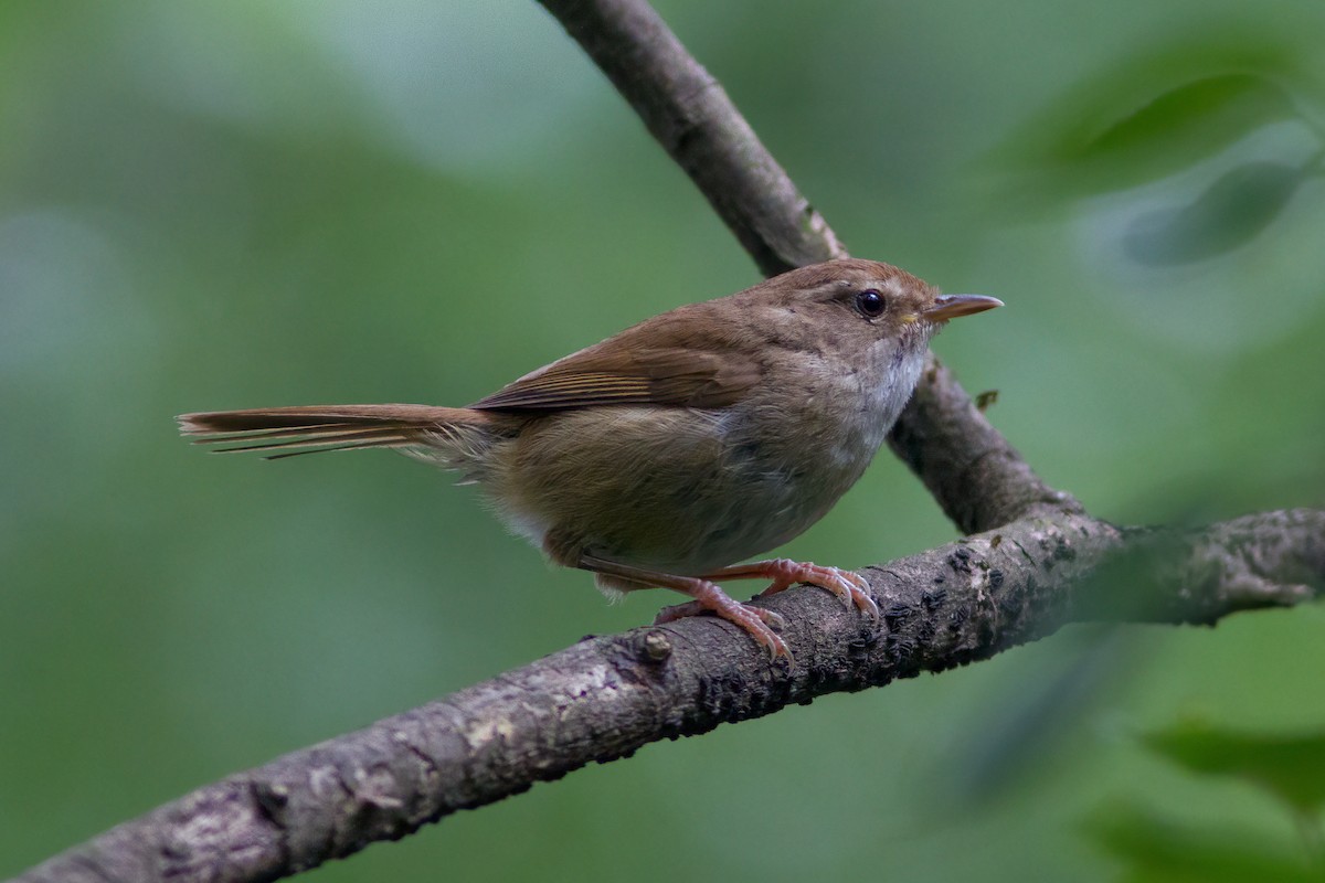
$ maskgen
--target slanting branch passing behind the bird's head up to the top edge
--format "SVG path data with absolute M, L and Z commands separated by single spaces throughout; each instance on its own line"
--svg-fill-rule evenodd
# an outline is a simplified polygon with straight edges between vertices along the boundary
M 765 274 L 847 257 L 827 221 L 648 3 L 539 1 L 603 69 Z M 1083 511 L 1040 481 L 933 355 L 889 445 L 963 532 L 1034 511 Z

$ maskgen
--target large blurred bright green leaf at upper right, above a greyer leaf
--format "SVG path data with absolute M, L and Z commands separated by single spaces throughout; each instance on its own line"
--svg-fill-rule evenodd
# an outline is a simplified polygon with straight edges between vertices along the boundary
M 1011 132 L 994 160 L 1018 192 L 1053 199 L 1173 175 L 1269 123 L 1300 119 L 1280 41 L 1174 42 L 1071 87 Z M 1026 176 L 1041 183 L 1026 188 Z

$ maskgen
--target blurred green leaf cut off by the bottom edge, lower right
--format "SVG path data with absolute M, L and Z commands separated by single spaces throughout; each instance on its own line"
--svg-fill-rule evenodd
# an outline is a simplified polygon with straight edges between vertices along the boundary
M 1238 830 L 1181 827 L 1130 804 L 1094 813 L 1088 834 L 1128 864 L 1133 883 L 1306 883 L 1320 874 Z

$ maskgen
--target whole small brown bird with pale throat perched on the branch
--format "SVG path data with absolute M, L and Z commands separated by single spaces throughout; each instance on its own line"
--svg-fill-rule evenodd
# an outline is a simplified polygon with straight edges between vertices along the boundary
M 456 470 L 608 596 L 676 589 L 693 601 L 657 622 L 709 610 L 790 659 L 780 617 L 717 582 L 770 580 L 762 594 L 811 582 L 877 620 L 856 573 L 737 561 L 823 518 L 901 413 L 930 336 L 996 306 L 888 263 L 831 261 L 653 316 L 468 408 L 306 405 L 179 422 L 201 443 L 237 442 L 229 451 L 395 447 Z

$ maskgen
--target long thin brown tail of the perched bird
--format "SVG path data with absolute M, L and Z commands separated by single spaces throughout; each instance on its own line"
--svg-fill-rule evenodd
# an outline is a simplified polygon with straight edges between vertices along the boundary
M 432 405 L 301 405 L 182 414 L 180 432 L 217 451 L 261 451 L 268 459 L 327 450 L 396 447 L 464 469 L 492 443 L 493 418 Z

